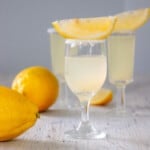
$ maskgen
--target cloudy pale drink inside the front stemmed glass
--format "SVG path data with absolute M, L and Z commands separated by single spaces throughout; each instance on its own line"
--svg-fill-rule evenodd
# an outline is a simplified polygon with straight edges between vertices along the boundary
M 65 57 L 65 79 L 69 88 L 77 96 L 91 95 L 101 88 L 105 81 L 107 64 L 106 56 Z M 80 100 L 88 100 L 81 98 Z

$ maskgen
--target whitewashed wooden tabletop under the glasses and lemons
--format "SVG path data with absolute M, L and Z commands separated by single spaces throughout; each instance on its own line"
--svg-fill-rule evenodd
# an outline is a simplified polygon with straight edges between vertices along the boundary
M 10 82 L 5 80 L 1 79 L 1 83 Z M 132 112 L 128 117 L 108 115 L 113 104 L 90 109 L 96 128 L 108 134 L 105 140 L 65 137 L 64 132 L 78 124 L 79 109 L 58 109 L 54 105 L 24 134 L 15 140 L 0 142 L 0 150 L 150 150 L 150 77 L 135 78 L 126 93 L 127 108 Z

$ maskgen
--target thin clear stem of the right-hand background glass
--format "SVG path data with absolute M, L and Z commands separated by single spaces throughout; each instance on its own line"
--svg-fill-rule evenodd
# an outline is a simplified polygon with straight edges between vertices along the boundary
M 126 111 L 125 88 L 126 88 L 126 85 L 117 86 L 119 98 L 117 98 L 116 106 L 117 106 L 117 110 L 119 109 L 122 112 Z

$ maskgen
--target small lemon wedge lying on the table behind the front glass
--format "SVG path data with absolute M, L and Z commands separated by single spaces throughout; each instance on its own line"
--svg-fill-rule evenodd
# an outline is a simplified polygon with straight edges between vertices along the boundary
M 101 89 L 92 98 L 91 105 L 106 105 L 112 101 L 113 92 L 110 89 Z

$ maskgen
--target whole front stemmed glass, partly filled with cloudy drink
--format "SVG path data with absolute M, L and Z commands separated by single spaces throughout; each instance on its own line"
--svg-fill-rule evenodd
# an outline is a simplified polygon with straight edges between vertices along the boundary
M 102 87 L 107 72 L 105 41 L 66 40 L 65 80 L 81 105 L 81 121 L 76 129 L 65 132 L 72 138 L 101 139 L 89 120 L 90 100 Z

